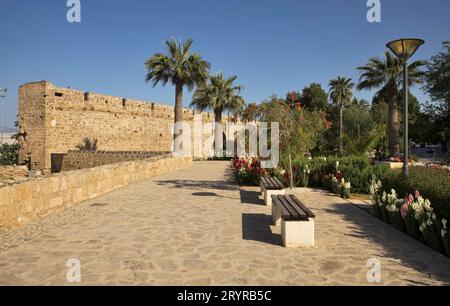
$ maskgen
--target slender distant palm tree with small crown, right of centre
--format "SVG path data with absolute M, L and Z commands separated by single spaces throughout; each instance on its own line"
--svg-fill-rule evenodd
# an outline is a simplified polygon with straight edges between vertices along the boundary
M 342 155 L 343 148 L 343 134 L 344 134 L 344 120 L 343 112 L 344 107 L 352 103 L 352 89 L 355 84 L 352 79 L 347 79 L 344 77 L 337 77 L 329 83 L 330 86 L 330 98 L 339 107 L 339 154 Z

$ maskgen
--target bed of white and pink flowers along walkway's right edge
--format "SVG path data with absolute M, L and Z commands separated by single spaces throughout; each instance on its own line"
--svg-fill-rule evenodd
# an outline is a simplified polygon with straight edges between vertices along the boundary
M 402 199 L 373 180 L 370 191 L 376 217 L 450 257 L 447 218 L 439 218 L 431 202 L 416 191 Z

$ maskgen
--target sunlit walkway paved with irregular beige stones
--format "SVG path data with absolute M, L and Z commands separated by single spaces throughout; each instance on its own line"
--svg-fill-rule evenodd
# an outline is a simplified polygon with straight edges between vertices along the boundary
M 322 191 L 296 194 L 317 215 L 316 247 L 282 247 L 258 188 L 238 188 L 226 162 L 196 162 L 0 235 L 0 284 L 450 284 L 450 260 Z

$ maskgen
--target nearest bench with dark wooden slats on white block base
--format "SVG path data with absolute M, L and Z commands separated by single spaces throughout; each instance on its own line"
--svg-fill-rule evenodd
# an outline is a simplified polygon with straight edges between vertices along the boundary
M 294 195 L 272 195 L 272 221 L 281 220 L 281 239 L 285 247 L 314 246 L 315 215 Z

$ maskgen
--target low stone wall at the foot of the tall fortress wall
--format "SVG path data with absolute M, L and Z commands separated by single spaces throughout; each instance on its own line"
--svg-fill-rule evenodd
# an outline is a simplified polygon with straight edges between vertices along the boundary
M 62 171 L 94 168 L 115 163 L 168 156 L 170 152 L 69 151 L 62 156 Z

